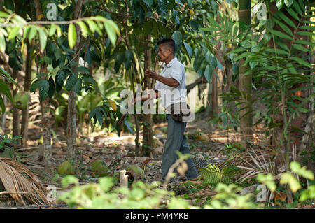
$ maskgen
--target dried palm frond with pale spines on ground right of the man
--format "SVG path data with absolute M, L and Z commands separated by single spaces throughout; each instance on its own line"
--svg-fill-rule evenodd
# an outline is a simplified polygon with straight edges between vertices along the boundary
M 272 157 L 276 154 L 271 147 L 267 145 L 254 145 L 249 143 L 250 150 L 242 152 L 233 159 L 228 159 L 218 168 L 225 166 L 235 166 L 242 171 L 235 175 L 237 181 L 244 182 L 246 179 L 255 178 L 259 173 L 272 173 L 275 174 Z

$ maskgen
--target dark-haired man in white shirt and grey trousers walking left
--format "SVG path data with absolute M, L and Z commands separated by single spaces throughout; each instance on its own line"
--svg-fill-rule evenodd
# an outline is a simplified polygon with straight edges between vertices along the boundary
M 166 108 L 168 113 L 171 113 L 172 106 L 174 111 L 174 105 L 186 105 L 186 80 L 185 80 L 185 68 L 181 62 L 175 57 L 176 45 L 171 38 L 162 38 L 158 41 L 158 56 L 160 61 L 165 62 L 162 66 L 160 75 L 146 69 L 145 75 L 148 78 L 157 80 L 155 85 L 155 95 L 153 98 L 162 96 L 162 106 Z M 174 94 L 169 94 L 175 92 Z M 136 101 L 145 101 L 150 99 L 151 96 L 142 96 L 136 98 Z M 188 107 L 189 108 L 189 107 Z M 178 113 L 177 113 L 178 114 Z M 190 154 L 190 148 L 187 144 L 187 138 L 184 135 L 186 129 L 186 123 L 181 118 L 176 119 L 176 115 L 167 114 L 167 141 L 165 143 L 165 151 L 162 155 L 162 182 L 165 181 L 169 168 L 176 162 L 176 151 L 182 154 Z M 197 180 L 198 173 L 193 163 L 193 159 L 186 160 L 188 170 L 185 175 L 188 180 Z

